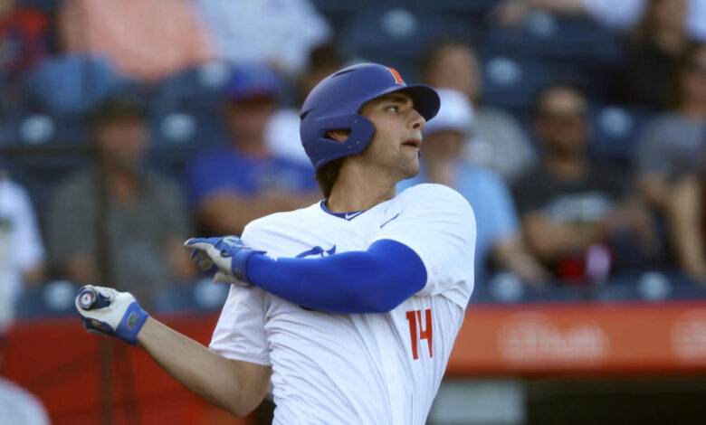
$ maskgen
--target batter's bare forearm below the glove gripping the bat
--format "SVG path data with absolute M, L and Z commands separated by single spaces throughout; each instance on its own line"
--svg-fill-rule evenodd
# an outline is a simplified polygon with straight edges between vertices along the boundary
M 151 316 L 138 345 L 176 381 L 235 416 L 253 411 L 267 391 L 269 367 L 226 359 Z

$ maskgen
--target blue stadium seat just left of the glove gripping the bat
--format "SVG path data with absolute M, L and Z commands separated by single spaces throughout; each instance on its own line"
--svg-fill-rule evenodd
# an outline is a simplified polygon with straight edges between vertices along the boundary
M 66 280 L 25 288 L 14 305 L 15 315 L 19 318 L 75 315 L 73 297 L 76 289 L 72 282 Z

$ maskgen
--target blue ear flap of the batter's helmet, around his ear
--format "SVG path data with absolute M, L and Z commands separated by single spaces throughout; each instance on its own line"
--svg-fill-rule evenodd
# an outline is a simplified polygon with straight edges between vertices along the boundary
M 307 155 L 320 158 L 314 164 L 314 168 L 317 170 L 321 165 L 340 157 L 359 154 L 366 148 L 375 134 L 373 123 L 358 114 L 316 118 L 313 124 L 315 125 L 312 127 L 317 128 L 318 132 L 313 135 L 304 135 L 302 132 L 301 139 Z M 329 131 L 346 129 L 350 130 L 350 135 L 345 141 L 339 142 L 327 136 Z M 315 142 L 308 142 L 309 140 L 315 140 Z

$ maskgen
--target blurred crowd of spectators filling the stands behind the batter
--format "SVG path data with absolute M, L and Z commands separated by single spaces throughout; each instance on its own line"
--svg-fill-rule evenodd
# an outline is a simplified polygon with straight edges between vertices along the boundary
M 477 216 L 472 303 L 706 295 L 706 0 L 0 0 L 0 323 L 84 283 L 217 310 L 181 243 L 316 202 L 298 108 L 439 89 L 410 184 Z

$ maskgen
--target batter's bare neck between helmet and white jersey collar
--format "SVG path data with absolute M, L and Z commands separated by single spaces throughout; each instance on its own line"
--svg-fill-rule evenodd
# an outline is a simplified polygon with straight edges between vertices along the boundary
M 385 180 L 357 169 L 341 169 L 326 206 L 331 213 L 369 210 L 395 197 L 396 182 Z

